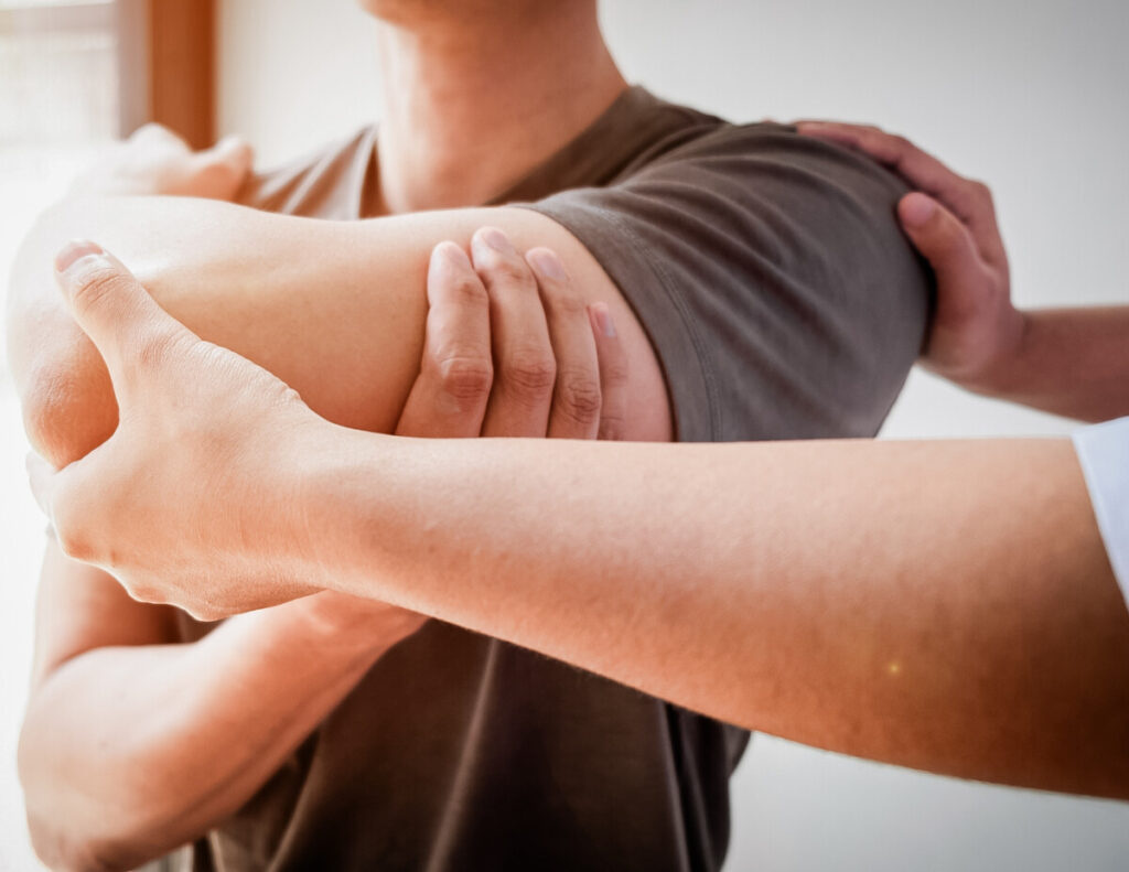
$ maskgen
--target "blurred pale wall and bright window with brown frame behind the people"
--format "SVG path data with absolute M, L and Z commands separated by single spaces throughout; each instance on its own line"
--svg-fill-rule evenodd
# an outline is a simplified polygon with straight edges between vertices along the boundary
M 904 133 L 996 192 L 1021 305 L 1129 303 L 1124 0 L 604 0 L 624 72 L 730 120 Z M 73 172 L 147 120 L 260 166 L 379 119 L 352 0 L 0 0 L 0 276 Z M 2 317 L 2 315 L 0 315 Z M 2 333 L 0 333 L 2 337 Z M 0 338 L 0 343 L 2 343 Z M 914 373 L 885 437 L 1071 424 Z M 43 523 L 0 368 L 0 870 L 36 870 L 15 747 Z M 1129 805 L 918 775 L 756 736 L 728 869 L 1123 870 Z

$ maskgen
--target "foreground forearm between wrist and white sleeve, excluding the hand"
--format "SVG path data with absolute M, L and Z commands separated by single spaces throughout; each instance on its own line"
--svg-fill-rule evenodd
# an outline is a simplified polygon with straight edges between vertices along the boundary
M 355 593 L 796 741 L 1129 796 L 1129 619 L 1068 443 L 341 436 L 317 523 L 360 520 L 327 533 Z

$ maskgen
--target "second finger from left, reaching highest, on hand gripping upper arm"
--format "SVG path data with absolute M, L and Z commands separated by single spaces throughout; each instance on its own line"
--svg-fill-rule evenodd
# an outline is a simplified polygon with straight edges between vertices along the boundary
M 557 366 L 536 279 L 497 228 L 475 233 L 471 253 L 490 296 L 495 361 L 495 386 L 482 435 L 544 436 Z

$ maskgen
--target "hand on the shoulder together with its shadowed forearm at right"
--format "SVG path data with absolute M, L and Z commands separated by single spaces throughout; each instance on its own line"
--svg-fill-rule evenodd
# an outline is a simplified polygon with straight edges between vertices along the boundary
M 1129 415 L 1129 306 L 1016 309 L 991 192 L 902 137 L 802 122 L 802 133 L 861 149 L 919 191 L 899 204 L 907 235 L 937 273 L 922 363 L 970 391 L 1069 418 Z

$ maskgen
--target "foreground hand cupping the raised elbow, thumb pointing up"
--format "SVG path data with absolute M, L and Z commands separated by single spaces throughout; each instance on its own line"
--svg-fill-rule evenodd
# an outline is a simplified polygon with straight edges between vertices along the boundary
M 71 314 L 106 361 L 113 436 L 32 487 L 62 550 L 135 599 L 215 619 L 310 593 L 299 471 L 333 425 L 265 369 L 172 319 L 112 255 L 56 260 Z

